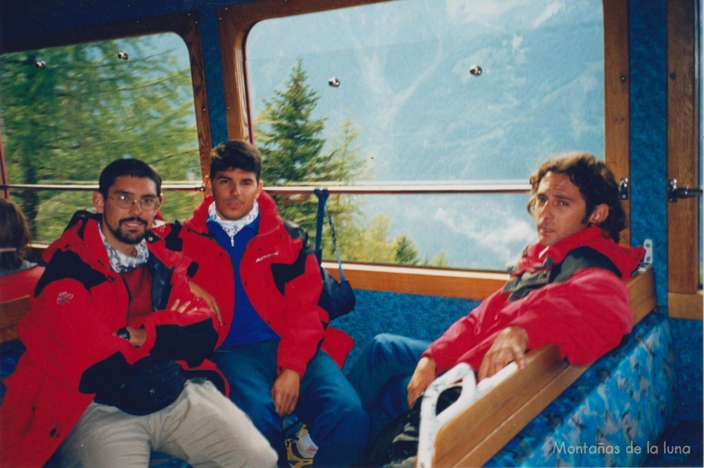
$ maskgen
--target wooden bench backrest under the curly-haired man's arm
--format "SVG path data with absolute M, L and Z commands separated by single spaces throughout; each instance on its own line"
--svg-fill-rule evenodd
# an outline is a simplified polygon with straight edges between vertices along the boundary
M 650 268 L 629 280 L 634 325 L 655 310 Z M 440 429 L 434 467 L 480 467 L 588 369 L 569 365 L 556 346 L 527 353 L 527 366 L 501 381 Z

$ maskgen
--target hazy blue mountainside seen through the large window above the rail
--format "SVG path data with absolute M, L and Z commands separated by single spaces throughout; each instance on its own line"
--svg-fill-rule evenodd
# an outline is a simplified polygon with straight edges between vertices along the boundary
M 263 21 L 247 40 L 256 121 L 300 63 L 323 152 L 345 122 L 357 129 L 358 180 L 523 179 L 546 154 L 603 155 L 602 23 L 601 0 L 405 0 Z

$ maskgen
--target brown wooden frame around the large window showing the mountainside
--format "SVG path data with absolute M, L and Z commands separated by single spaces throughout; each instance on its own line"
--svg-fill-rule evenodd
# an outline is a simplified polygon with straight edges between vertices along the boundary
M 220 53 L 225 90 L 227 134 L 253 141 L 251 103 L 247 91 L 246 36 L 258 21 L 389 0 L 263 0 L 218 8 Z M 630 178 L 628 0 L 604 0 L 604 130 L 605 160 L 617 180 Z M 627 220 L 630 203 L 624 201 Z M 630 231 L 622 235 L 630 242 Z M 337 265 L 324 263 L 332 274 Z M 503 286 L 505 274 L 470 270 L 346 264 L 346 274 L 358 289 L 434 294 L 483 299 Z

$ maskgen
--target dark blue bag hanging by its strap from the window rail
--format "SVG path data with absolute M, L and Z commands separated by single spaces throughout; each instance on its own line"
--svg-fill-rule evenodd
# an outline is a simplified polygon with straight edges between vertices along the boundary
M 340 280 L 337 281 L 332 274 L 329 274 L 325 268 L 320 266 L 320 276 L 322 277 L 322 292 L 318 305 L 327 311 L 329 320 L 334 320 L 337 317 L 346 315 L 351 312 L 357 302 L 354 291 L 350 282 L 345 278 L 345 272 L 342 271 L 342 261 L 340 253 L 337 250 L 337 241 L 335 241 L 335 227 L 332 224 L 332 217 L 327 210 L 327 189 L 315 189 L 315 195 L 318 196 L 318 221 L 315 226 L 315 256 L 318 258 L 318 265 L 322 262 L 322 223 L 323 218 L 327 215 L 327 223 L 330 227 L 332 237 L 332 245 L 335 248 L 337 255 L 337 267 L 340 272 Z

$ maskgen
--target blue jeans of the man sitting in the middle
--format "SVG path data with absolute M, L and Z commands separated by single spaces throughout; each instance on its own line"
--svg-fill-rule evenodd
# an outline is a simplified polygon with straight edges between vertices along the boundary
M 282 417 L 271 387 L 277 378 L 278 341 L 216 350 L 213 361 L 230 383 L 230 399 L 249 415 L 288 467 Z M 332 358 L 318 351 L 301 379 L 294 414 L 318 445 L 315 466 L 343 467 L 364 460 L 369 419 L 359 397 Z

